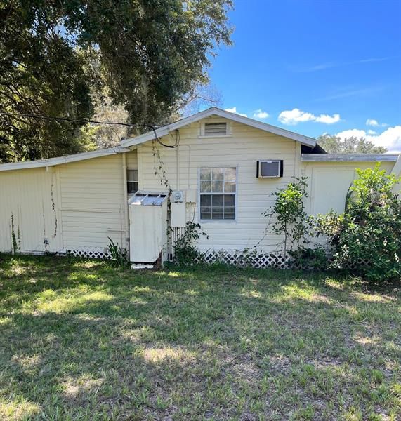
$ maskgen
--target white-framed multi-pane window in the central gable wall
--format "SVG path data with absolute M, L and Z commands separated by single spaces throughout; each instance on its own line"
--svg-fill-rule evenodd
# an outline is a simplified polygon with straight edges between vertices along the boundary
M 200 219 L 234 220 L 237 168 L 201 168 Z

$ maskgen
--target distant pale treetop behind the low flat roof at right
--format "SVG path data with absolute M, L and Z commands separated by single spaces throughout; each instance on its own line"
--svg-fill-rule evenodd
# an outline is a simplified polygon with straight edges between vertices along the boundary
M 385 154 L 387 149 L 371 140 L 355 136 L 341 140 L 335 135 L 320 135 L 317 143 L 329 154 Z

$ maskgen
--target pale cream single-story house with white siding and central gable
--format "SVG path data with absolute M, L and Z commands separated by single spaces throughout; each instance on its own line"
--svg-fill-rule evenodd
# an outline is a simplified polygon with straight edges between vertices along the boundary
M 116 148 L 0 165 L 0 251 L 102 258 L 110 237 L 146 261 L 149 241 L 166 257 L 193 220 L 209 255 L 256 245 L 268 255 L 280 242 L 265 235 L 272 192 L 305 175 L 308 212 L 341 212 L 355 168 L 377 161 L 400 174 L 398 154 L 326 154 L 313 138 L 212 107 Z M 145 197 L 150 206 L 136 206 Z

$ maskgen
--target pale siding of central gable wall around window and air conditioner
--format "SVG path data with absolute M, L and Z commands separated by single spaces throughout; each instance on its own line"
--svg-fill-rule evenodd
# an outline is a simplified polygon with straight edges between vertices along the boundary
M 221 121 L 213 118 L 208 120 Z M 202 222 L 202 229 L 209 235 L 209 240 L 202 238 L 199 241 L 199 248 L 239 250 L 255 246 L 261 241 L 261 248 L 266 251 L 274 250 L 279 239 L 274 236 L 264 236 L 267 220 L 262 213 L 273 203 L 269 195 L 277 187 L 284 187 L 301 170 L 300 145 L 293 140 L 239 123 L 230 123 L 231 136 L 199 138 L 201 123 L 193 123 L 180 129 L 178 151 L 158 146 L 167 178 L 173 189 L 198 189 L 199 168 L 237 167 L 237 220 Z M 166 136 L 163 142 L 172 144 L 175 138 Z M 261 159 L 284 160 L 283 178 L 256 178 L 256 161 Z M 152 142 L 138 147 L 140 189 L 163 189 L 160 178 L 155 176 L 155 164 L 158 168 L 159 161 L 153 154 Z M 198 204 L 199 196 L 195 214 L 193 206 L 188 205 L 189 220 L 192 218 L 198 220 Z

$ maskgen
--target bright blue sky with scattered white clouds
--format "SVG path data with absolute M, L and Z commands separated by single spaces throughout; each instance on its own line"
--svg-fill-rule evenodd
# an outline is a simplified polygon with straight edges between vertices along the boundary
M 211 83 L 225 109 L 401 150 L 400 20 L 400 0 L 235 0 Z

